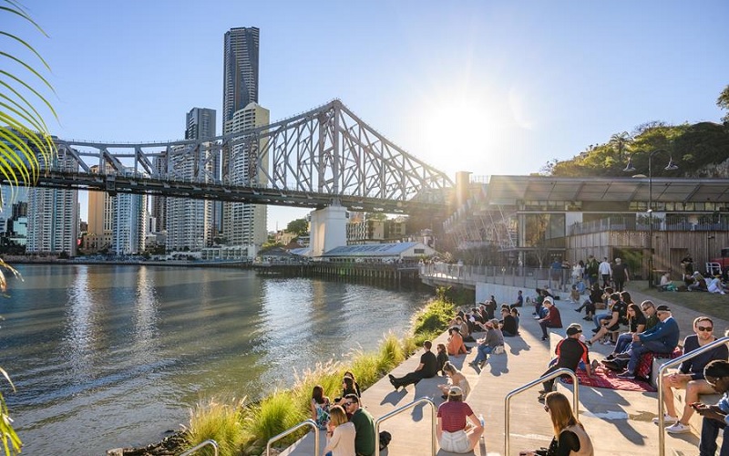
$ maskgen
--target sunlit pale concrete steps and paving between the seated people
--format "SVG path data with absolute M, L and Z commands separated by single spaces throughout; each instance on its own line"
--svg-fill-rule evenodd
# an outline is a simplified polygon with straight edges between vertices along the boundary
M 516 295 L 514 288 L 513 295 Z M 526 291 L 526 290 L 525 290 Z M 630 287 L 629 287 L 629 291 Z M 529 294 L 529 293 L 528 293 Z M 631 293 L 633 301 L 640 303 L 645 296 L 640 293 Z M 653 299 L 656 305 L 671 306 L 673 315 L 679 321 L 682 339 L 692 331 L 692 322 L 695 312 L 679 306 L 681 294 L 666 294 L 670 301 Z M 499 304 L 502 301 L 512 302 L 508 296 L 498 296 Z M 590 337 L 590 322 L 581 319 L 584 314 L 574 311 L 577 305 L 569 301 L 559 300 L 562 321 L 566 328 L 570 323 L 584 324 L 585 334 Z M 488 360 L 483 371 L 467 365 L 467 362 L 476 356 L 471 350 L 466 356 L 451 357 L 458 368 L 463 367 L 471 384 L 471 394 L 467 398 L 468 404 L 478 413 L 483 413 L 486 420 L 485 439 L 481 441 L 480 448 L 472 454 L 504 455 L 505 453 L 505 397 L 509 391 L 518 389 L 522 385 L 539 378 L 546 369 L 549 358 L 552 356 L 554 344 L 564 336 L 564 328 L 553 330 L 551 340 L 542 342 L 539 325 L 531 316 L 533 309 L 521 309 L 520 337 L 506 337 L 506 353 L 496 355 Z M 729 323 L 724 320 L 714 320 L 716 336 L 723 336 L 724 329 Z M 447 335 L 438 337 L 435 343 L 445 341 Z M 473 344 L 467 344 L 471 346 Z M 550 347 L 551 346 L 551 347 Z M 612 347 L 595 344 L 590 348 L 590 358 L 602 359 L 610 353 Z M 393 370 L 395 377 L 416 368 L 419 353 L 408 358 L 403 364 Z M 375 416 L 375 419 L 405 406 L 415 399 L 426 397 L 433 400 L 436 406 L 443 399 L 436 388 L 439 383 L 445 383 L 446 378 L 429 378 L 422 380 L 416 386 L 411 385 L 406 390 L 395 392 L 385 377 L 375 383 L 363 393 L 363 403 L 366 409 Z M 571 386 L 556 382 L 561 390 L 571 399 Z M 543 405 L 537 401 L 537 391 L 540 385 L 530 389 L 511 400 L 511 451 L 510 454 L 519 454 L 519 451 L 549 446 L 552 430 L 549 415 L 544 411 Z M 658 427 L 652 423 L 657 417 L 657 393 L 642 393 L 622 391 L 617 389 L 593 389 L 580 386 L 580 420 L 595 447 L 595 454 L 631 455 L 658 454 Z M 400 455 L 426 455 L 431 449 L 431 408 L 428 405 L 418 405 L 409 409 L 381 425 L 381 430 L 388 430 L 393 440 L 388 449 L 389 454 Z M 322 437 L 321 449 L 324 440 Z M 666 434 L 666 454 L 689 455 L 698 452 L 698 436 L 682 434 L 673 436 Z M 282 454 L 312 455 L 313 433 L 300 440 L 293 447 Z M 386 451 L 383 454 L 388 454 Z M 439 456 L 448 456 L 453 453 L 438 450 Z

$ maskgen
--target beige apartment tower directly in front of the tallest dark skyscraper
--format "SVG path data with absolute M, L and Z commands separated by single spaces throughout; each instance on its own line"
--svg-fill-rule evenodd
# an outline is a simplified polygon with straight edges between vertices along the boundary
M 232 119 L 225 122 L 223 133 L 244 133 L 263 125 L 268 125 L 271 120 L 271 113 L 268 109 L 251 103 L 233 115 Z M 234 145 L 230 150 L 228 160 L 225 162 L 226 169 L 223 173 L 232 185 L 256 186 L 265 184 L 263 171 L 252 174 L 252 160 L 261 150 L 265 149 L 267 139 L 248 141 Z M 262 163 L 263 169 L 267 170 L 268 161 Z M 268 233 L 266 224 L 268 222 L 266 206 L 264 204 L 251 204 L 247 202 L 225 202 L 223 203 L 223 233 L 230 245 L 257 245 L 266 242 Z

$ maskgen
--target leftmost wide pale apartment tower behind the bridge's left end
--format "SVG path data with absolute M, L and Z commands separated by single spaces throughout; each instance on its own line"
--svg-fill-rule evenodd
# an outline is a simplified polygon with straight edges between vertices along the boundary
M 65 150 L 58 150 L 50 159 L 54 168 L 77 172 L 78 164 Z M 41 166 L 45 167 L 41 160 Z M 28 239 L 29 254 L 76 254 L 78 239 L 78 192 L 76 190 L 45 189 L 28 190 Z

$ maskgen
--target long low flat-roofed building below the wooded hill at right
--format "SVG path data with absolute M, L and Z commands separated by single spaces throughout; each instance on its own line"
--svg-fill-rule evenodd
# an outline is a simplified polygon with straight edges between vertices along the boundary
M 652 263 L 678 279 L 687 254 L 704 270 L 729 246 L 727 188 L 713 178 L 490 176 L 470 181 L 444 231 L 457 250 L 495 248 L 502 264 L 592 254 L 620 257 L 631 278 L 647 279 Z

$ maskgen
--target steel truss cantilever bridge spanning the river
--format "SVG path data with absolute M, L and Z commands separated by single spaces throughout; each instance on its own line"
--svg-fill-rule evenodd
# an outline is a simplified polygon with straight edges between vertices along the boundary
M 453 187 L 338 99 L 205 140 L 54 140 L 57 157 L 37 187 L 388 213 L 440 212 Z

